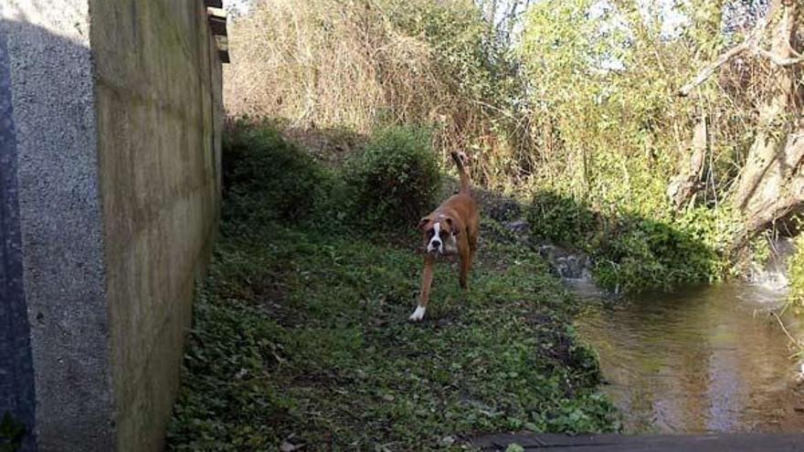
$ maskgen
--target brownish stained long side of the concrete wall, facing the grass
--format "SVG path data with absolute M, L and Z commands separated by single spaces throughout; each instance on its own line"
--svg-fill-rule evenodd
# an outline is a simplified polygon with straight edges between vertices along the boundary
M 220 64 L 202 6 L 90 1 L 111 366 L 130 450 L 163 440 L 216 228 Z

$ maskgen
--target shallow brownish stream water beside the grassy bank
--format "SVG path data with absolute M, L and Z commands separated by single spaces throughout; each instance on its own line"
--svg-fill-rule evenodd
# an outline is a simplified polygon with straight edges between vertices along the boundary
M 804 384 L 770 310 L 778 293 L 720 284 L 606 302 L 576 320 L 629 433 L 804 432 Z M 795 337 L 804 323 L 784 319 Z

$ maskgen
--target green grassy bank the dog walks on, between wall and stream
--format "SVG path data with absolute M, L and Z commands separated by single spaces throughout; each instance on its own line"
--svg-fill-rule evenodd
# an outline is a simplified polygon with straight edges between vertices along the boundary
M 256 152 L 267 166 L 226 167 L 222 237 L 196 302 L 169 449 L 426 450 L 484 432 L 617 428 L 595 391 L 597 362 L 569 326 L 576 300 L 492 220 L 470 290 L 441 263 L 428 318 L 410 323 L 418 236 L 355 226 L 342 170 L 270 131 L 227 152 L 252 163 Z M 283 165 L 294 193 L 319 199 L 288 205 L 281 179 L 255 182 L 288 177 Z

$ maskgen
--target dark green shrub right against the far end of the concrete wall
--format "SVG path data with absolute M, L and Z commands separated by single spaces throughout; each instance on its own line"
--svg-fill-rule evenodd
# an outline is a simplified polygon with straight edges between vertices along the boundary
M 224 217 L 300 220 L 326 189 L 323 167 L 269 123 L 236 121 L 223 145 Z

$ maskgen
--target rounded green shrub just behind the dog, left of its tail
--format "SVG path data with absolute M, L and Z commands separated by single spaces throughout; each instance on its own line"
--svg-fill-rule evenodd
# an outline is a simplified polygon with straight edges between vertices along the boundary
M 416 225 L 440 187 L 430 134 L 421 128 L 377 131 L 345 171 L 354 218 L 385 226 Z

